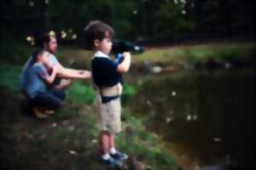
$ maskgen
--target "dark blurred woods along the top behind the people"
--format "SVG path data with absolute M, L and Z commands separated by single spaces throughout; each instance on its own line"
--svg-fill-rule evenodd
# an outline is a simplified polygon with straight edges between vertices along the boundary
M 250 1 L 3 0 L 0 8 L 1 42 L 11 45 L 45 31 L 55 31 L 60 42 L 83 44 L 84 26 L 90 20 L 113 26 L 119 39 L 145 44 L 253 40 L 255 36 Z

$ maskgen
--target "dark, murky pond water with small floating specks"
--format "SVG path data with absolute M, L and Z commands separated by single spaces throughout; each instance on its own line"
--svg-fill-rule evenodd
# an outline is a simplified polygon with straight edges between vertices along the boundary
M 253 70 L 179 71 L 134 83 L 131 111 L 147 117 L 145 126 L 183 167 L 256 168 Z

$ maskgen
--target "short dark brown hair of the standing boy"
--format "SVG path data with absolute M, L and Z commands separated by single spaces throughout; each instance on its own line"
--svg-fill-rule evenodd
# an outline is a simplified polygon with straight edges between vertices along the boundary
M 94 40 L 98 39 L 102 41 L 105 37 L 114 37 L 114 31 L 111 26 L 105 24 L 101 20 L 90 21 L 87 26 L 84 28 L 84 37 L 86 41 L 86 48 L 94 48 Z

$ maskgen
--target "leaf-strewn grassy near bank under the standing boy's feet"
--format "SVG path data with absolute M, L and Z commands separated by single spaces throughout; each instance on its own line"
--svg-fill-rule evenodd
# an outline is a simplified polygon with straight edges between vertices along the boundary
M 97 159 L 97 133 L 89 82 L 76 81 L 67 90 L 60 111 L 44 121 L 26 109 L 18 90 L 20 66 L 1 65 L 0 168 L 1 169 L 107 169 Z M 125 98 L 134 89 L 125 84 Z M 143 119 L 123 108 L 123 133 L 117 146 L 131 159 L 119 169 L 183 169 L 165 150 L 160 137 L 149 133 Z

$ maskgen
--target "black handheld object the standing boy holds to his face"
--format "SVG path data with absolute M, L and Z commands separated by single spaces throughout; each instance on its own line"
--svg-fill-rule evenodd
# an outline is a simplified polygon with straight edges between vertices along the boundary
M 127 41 L 114 41 L 112 47 L 112 53 L 115 56 L 116 62 L 119 62 L 121 59 L 121 54 L 124 52 L 131 52 L 133 54 L 143 54 L 144 48 L 137 46 L 135 43 Z

